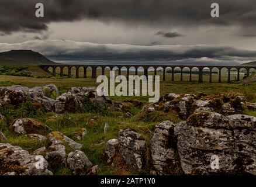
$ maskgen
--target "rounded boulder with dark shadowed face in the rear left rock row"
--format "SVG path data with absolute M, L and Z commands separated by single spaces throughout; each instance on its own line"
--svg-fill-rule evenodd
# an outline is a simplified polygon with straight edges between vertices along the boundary
M 77 95 L 71 92 L 63 93 L 58 96 L 55 102 L 55 112 L 65 113 L 65 112 L 78 112 L 82 108 L 82 103 L 77 98 Z

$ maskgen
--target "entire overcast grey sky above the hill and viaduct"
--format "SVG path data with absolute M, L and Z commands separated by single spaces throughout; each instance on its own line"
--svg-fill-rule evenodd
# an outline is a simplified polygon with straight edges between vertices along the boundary
M 44 4 L 44 18 L 34 6 Z M 220 5 L 220 18 L 210 5 Z M 56 61 L 229 64 L 256 60 L 255 0 L 0 0 L 0 51 Z

